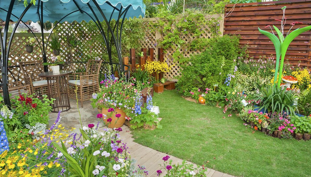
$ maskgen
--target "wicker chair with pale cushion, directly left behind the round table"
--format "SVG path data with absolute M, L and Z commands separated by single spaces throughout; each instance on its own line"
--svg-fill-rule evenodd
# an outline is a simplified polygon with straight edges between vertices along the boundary
M 42 62 L 21 62 L 20 67 L 25 84 L 30 85 L 31 92 L 39 96 L 48 95 L 48 82 L 42 77 L 39 77 L 39 73 L 44 72 Z

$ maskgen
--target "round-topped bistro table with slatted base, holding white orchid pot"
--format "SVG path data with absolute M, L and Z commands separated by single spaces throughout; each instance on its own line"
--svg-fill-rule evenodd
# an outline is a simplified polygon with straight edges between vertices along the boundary
M 54 98 L 52 112 L 68 111 L 70 109 L 66 76 L 71 71 L 52 71 L 40 73 L 39 77 L 45 77 L 48 82 L 49 99 Z

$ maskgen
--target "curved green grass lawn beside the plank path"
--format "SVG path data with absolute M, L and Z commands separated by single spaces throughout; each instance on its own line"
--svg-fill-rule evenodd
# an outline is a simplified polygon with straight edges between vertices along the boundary
M 252 133 L 239 117 L 184 100 L 174 90 L 153 98 L 163 129 L 133 131 L 139 144 L 200 165 L 209 161 L 208 167 L 234 176 L 311 176 L 311 140 Z

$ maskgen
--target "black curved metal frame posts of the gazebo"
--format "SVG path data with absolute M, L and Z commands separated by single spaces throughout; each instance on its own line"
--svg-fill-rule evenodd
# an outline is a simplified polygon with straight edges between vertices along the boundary
M 16 21 L 16 24 L 19 24 L 20 22 L 25 24 L 25 22 L 22 21 L 22 18 L 26 14 L 26 12 L 29 10 L 29 8 L 33 5 L 32 3 L 30 3 L 25 8 L 25 10 L 21 13 L 20 17 L 18 17 L 16 15 L 12 14 L 12 9 L 14 7 L 14 2 L 15 1 L 16 0 L 11 0 L 10 6 L 9 6 L 9 8 L 7 10 L 5 10 L 3 8 L 0 8 L 3 11 L 7 11 L 7 17 L 6 17 L 6 20 L 5 20 L 3 36 L 2 36 L 2 33 L 0 33 L 0 43 L 1 43 L 1 62 L 0 62 L 0 67 L 1 67 L 1 72 L 2 72 L 2 83 L 0 83 L 0 86 L 2 86 L 2 89 L 3 89 L 4 103 L 7 104 L 8 106 L 11 106 L 10 98 L 9 98 L 9 92 L 8 92 L 8 87 L 7 87 L 7 84 L 8 84 L 8 58 L 9 58 L 9 53 L 10 53 L 10 47 L 11 47 L 11 44 L 12 44 L 12 39 L 13 39 L 13 36 L 14 36 L 15 31 L 16 31 L 17 26 L 18 26 L 18 25 L 15 25 L 15 27 L 14 27 L 12 33 L 11 33 L 10 38 L 8 38 L 9 22 L 11 20 L 11 16 L 13 16 L 13 17 L 18 19 Z M 93 7 L 91 6 L 90 2 L 88 2 L 87 5 L 90 8 L 92 14 L 94 15 L 94 18 L 89 13 L 87 13 L 86 11 L 83 11 L 79 7 L 79 5 L 76 2 L 76 0 L 72 0 L 72 1 L 76 5 L 77 10 L 76 11 L 72 11 L 72 12 L 68 13 L 67 15 L 63 16 L 63 18 L 58 20 L 58 22 L 54 25 L 53 29 L 58 24 L 60 24 L 60 22 L 63 19 L 65 19 L 68 15 L 71 15 L 72 13 L 77 12 L 77 11 L 80 11 L 80 13 L 85 13 L 86 15 L 88 15 L 95 22 L 97 28 L 100 30 L 100 33 L 101 33 L 101 35 L 104 38 L 104 42 L 105 42 L 105 45 L 106 45 L 107 51 L 108 51 L 109 62 L 103 62 L 103 63 L 109 64 L 111 66 L 110 67 L 111 70 L 113 68 L 112 65 L 113 64 L 117 64 L 119 73 L 129 72 L 130 67 L 128 65 L 124 65 L 123 61 L 122 61 L 121 38 L 122 38 L 122 29 L 123 29 L 123 23 L 124 23 L 124 20 L 125 20 L 125 16 L 126 16 L 128 10 L 129 10 L 129 8 L 132 5 L 129 4 L 125 8 L 123 8 L 122 5 L 121 5 L 120 8 L 117 8 L 117 7 L 114 7 L 110 2 L 106 1 L 105 4 L 107 4 L 107 5 L 109 5 L 109 6 L 111 6 L 113 8 L 113 11 L 112 11 L 110 17 L 107 18 L 105 16 L 104 12 L 102 11 L 102 9 L 100 8 L 99 4 L 95 0 L 91 0 L 95 4 L 95 7 L 100 12 L 100 15 L 104 18 L 104 21 L 105 21 L 105 23 L 108 26 L 108 29 L 105 32 L 104 29 L 103 29 L 103 26 L 101 25 L 100 20 L 99 20 L 98 16 L 96 15 L 96 13 L 95 13 Z M 41 42 L 39 42 L 39 39 L 35 36 L 35 34 L 31 30 L 30 31 L 35 36 L 35 39 L 39 43 L 39 47 L 40 47 L 42 55 L 43 55 L 43 62 L 47 62 L 47 58 L 46 58 L 47 47 L 46 46 L 48 44 L 48 41 L 49 41 L 49 38 L 50 38 L 52 32 L 49 34 L 49 37 L 46 40 L 46 44 L 45 44 L 45 40 L 44 40 L 45 38 L 44 38 L 44 33 L 43 33 L 43 25 L 42 25 L 44 23 L 44 19 L 43 19 L 43 3 L 44 2 L 42 2 L 41 0 L 38 0 L 38 5 L 37 5 L 38 6 L 37 7 L 38 19 L 39 19 L 39 22 L 41 24 L 42 46 L 41 46 Z M 112 28 L 110 26 L 110 22 L 112 20 L 112 15 L 114 14 L 114 11 L 118 12 L 118 18 L 115 19 L 116 20 L 116 24 Z M 121 24 L 120 24 L 120 19 L 122 19 Z M 119 28 L 119 26 L 120 26 L 120 28 Z M 109 39 L 109 36 L 110 36 L 110 39 Z M 119 63 L 113 63 L 113 61 L 112 61 L 111 49 L 113 47 L 112 46 L 113 44 L 114 44 L 114 46 L 116 47 L 116 50 L 117 50 L 117 55 L 118 55 Z M 124 66 L 127 66 L 128 69 L 125 70 Z M 44 71 L 47 71 L 47 70 L 48 70 L 48 68 L 47 68 L 47 66 L 45 66 L 44 67 Z M 127 74 L 127 76 L 129 76 L 129 74 Z

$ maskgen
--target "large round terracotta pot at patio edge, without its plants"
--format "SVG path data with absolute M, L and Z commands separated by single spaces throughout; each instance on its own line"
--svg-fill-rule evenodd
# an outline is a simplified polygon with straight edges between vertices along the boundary
M 121 109 L 114 109 L 114 112 L 112 113 L 111 117 L 108 117 L 108 115 L 111 113 L 108 112 L 108 109 L 103 108 L 101 113 L 107 115 L 105 119 L 103 117 L 103 120 L 109 128 L 120 128 L 121 126 L 123 126 L 125 122 L 126 114 Z M 121 114 L 121 117 L 115 117 L 116 114 Z M 111 118 L 112 121 L 108 122 L 107 121 L 108 118 Z

